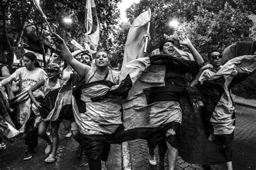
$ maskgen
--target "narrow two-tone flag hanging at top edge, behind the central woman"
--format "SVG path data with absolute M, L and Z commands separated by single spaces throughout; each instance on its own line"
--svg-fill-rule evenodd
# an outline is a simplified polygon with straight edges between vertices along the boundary
M 86 0 L 85 7 L 85 36 L 88 38 L 90 45 L 96 50 L 99 42 L 99 22 L 96 13 L 96 6 L 93 0 Z

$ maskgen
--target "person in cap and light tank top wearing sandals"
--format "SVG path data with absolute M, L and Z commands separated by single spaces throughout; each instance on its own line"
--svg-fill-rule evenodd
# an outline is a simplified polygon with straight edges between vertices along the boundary
M 42 88 L 43 87 L 43 93 L 44 96 L 55 90 L 58 89 L 60 86 L 63 85 L 65 81 L 58 79 L 59 75 L 59 65 L 56 63 L 51 63 L 48 65 L 48 68 L 45 69 L 48 75 L 48 78 L 44 78 L 39 80 L 35 85 L 33 85 L 29 90 L 29 97 L 32 100 L 32 103 L 36 106 L 33 107 L 32 109 L 34 112 L 39 112 L 38 108 L 42 108 L 41 103 L 36 100 L 36 98 L 33 96 L 33 91 Z M 37 110 L 37 111 L 36 111 Z M 38 127 L 38 133 L 41 138 L 43 138 L 48 144 L 47 147 L 45 148 L 45 154 L 49 154 L 49 157 L 45 159 L 45 162 L 48 163 L 53 163 L 56 161 L 56 152 L 58 148 L 58 143 L 59 143 L 59 136 L 58 136 L 58 129 L 59 129 L 59 124 L 60 121 L 51 121 L 51 135 L 52 135 L 52 141 L 49 138 L 49 136 L 46 134 L 47 127 L 49 125 L 49 121 L 41 121 Z

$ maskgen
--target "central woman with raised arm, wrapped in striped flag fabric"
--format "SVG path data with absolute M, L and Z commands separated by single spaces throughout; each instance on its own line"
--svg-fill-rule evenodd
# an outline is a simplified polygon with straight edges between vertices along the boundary
M 109 69 L 109 56 L 107 52 L 100 50 L 96 53 L 95 65 L 90 67 L 76 60 L 63 39 L 55 34 L 55 39 L 59 43 L 61 54 L 70 64 L 70 66 L 85 78 L 85 83 L 97 83 L 98 81 L 108 81 L 112 84 L 118 84 L 119 73 Z M 90 89 L 91 92 L 98 94 L 100 88 Z M 111 88 L 110 88 L 111 90 Z M 112 134 L 117 127 L 122 124 L 120 112 L 120 99 L 116 98 L 103 99 L 100 101 L 92 101 L 86 96 L 82 89 L 81 99 L 83 100 L 80 107 L 86 107 L 85 113 L 80 114 L 81 117 L 76 117 L 76 123 L 79 126 L 80 133 L 83 139 L 83 150 L 89 158 L 90 169 L 101 169 L 101 160 L 106 161 L 110 151 L 110 144 L 100 140 L 104 138 L 104 134 Z M 86 102 L 85 102 L 86 101 Z M 83 117 L 83 118 L 82 118 Z

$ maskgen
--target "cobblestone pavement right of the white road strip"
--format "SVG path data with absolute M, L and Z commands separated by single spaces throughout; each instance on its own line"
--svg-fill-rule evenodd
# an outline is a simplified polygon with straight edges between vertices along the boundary
M 237 106 L 237 120 L 233 149 L 233 169 L 256 169 L 256 109 Z M 131 164 L 133 169 L 158 169 L 149 164 L 147 142 L 145 140 L 129 141 Z M 159 162 L 156 148 L 157 162 Z M 226 164 L 215 165 L 212 169 L 226 169 Z M 167 154 L 165 154 L 167 169 Z M 199 165 L 188 164 L 178 157 L 176 169 L 204 169 Z

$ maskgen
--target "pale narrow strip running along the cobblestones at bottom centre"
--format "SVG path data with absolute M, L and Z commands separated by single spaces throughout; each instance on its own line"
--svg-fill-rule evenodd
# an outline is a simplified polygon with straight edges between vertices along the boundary
M 122 147 L 122 167 L 124 170 L 131 170 L 131 157 L 130 157 L 130 151 L 129 151 L 129 144 L 127 141 L 123 142 L 121 144 Z

